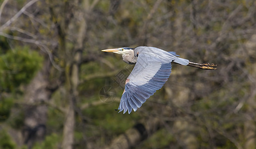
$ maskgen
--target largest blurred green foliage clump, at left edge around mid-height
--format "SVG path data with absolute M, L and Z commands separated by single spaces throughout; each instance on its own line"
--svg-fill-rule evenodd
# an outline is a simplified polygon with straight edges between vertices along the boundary
M 41 67 L 42 57 L 28 47 L 16 47 L 0 56 L 0 91 L 14 91 L 28 83 Z

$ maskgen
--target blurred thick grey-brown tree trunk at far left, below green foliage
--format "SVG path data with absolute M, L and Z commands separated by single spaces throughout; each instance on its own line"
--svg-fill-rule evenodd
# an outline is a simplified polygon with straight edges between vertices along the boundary
M 50 61 L 46 61 L 43 69 L 31 80 L 26 88 L 24 101 L 33 106 L 27 106 L 25 110 L 24 128 L 22 130 L 23 142 L 30 149 L 35 141 L 43 141 L 47 120 L 47 106 L 34 103 L 48 101 L 52 91 L 49 86 Z

